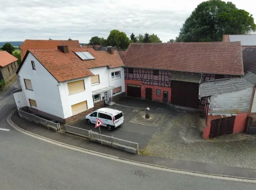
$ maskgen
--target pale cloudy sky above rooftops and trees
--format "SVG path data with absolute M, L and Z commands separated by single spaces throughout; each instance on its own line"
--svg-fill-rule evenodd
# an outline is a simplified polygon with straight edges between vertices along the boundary
M 233 0 L 253 14 L 255 0 Z M 25 39 L 79 40 L 107 38 L 112 29 L 155 33 L 167 42 L 179 35 L 185 19 L 202 0 L 0 0 L 0 41 Z M 227 2 L 227 1 L 226 1 Z

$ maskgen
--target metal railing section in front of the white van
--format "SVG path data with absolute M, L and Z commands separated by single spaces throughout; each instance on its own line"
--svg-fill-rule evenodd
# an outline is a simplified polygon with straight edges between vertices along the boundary
M 88 131 L 86 129 L 77 128 L 71 125 L 65 125 L 66 132 L 72 133 L 74 135 L 86 137 L 89 140 L 97 141 L 98 143 L 105 144 L 107 146 L 118 148 L 124 151 L 132 152 L 138 154 L 139 144 L 133 143 L 131 141 L 117 139 L 115 137 L 100 135 L 97 132 Z

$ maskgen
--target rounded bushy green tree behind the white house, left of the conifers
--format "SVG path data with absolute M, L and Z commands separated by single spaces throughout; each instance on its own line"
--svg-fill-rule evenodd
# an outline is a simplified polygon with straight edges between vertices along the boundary
M 110 34 L 107 37 L 107 42 L 109 46 L 117 46 L 122 50 L 126 50 L 129 46 L 130 40 L 126 33 L 113 29 L 113 31 L 110 31 Z

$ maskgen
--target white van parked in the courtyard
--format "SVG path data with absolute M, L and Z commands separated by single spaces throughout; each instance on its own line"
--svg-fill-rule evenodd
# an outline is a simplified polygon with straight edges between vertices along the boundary
M 124 123 L 122 111 L 106 107 L 95 110 L 86 116 L 88 124 L 95 124 L 97 119 L 101 120 L 103 122 L 103 126 L 106 126 L 109 131 Z

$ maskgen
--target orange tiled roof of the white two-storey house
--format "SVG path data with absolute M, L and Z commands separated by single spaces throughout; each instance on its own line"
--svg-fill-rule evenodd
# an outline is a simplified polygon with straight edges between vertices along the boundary
M 92 76 L 90 68 L 109 66 L 116 68 L 124 66 L 117 51 L 110 54 L 107 51 L 95 51 L 94 49 L 69 49 L 69 53 L 60 50 L 28 50 L 46 68 L 57 81 L 80 79 Z M 95 59 L 81 60 L 75 52 L 88 51 Z M 24 58 L 25 60 L 25 58 Z M 23 62 L 21 63 L 22 66 Z M 20 66 L 20 68 L 21 68 Z M 17 72 L 20 70 L 18 68 Z

